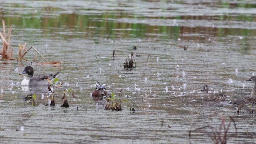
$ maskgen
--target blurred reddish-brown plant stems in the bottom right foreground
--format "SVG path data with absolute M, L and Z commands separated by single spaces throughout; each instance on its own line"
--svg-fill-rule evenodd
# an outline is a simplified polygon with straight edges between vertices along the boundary
M 220 126 L 211 126 L 210 124 L 208 124 L 206 126 L 196 128 L 195 130 L 190 130 L 189 131 L 189 138 L 191 137 L 192 132 L 198 132 L 199 130 L 202 130 L 202 129 L 205 129 L 205 128 L 210 128 L 212 130 L 211 132 L 204 131 L 204 133 L 207 133 L 210 136 L 213 136 L 212 140 L 214 141 L 215 144 L 226 144 L 226 142 L 228 140 L 227 139 L 228 130 L 229 130 L 232 123 L 234 125 L 234 128 L 236 130 L 236 134 L 237 134 L 236 123 L 235 123 L 234 119 L 232 118 L 232 116 L 229 116 L 228 124 L 226 124 L 225 116 L 223 116 L 222 114 L 218 114 L 218 113 L 213 114 L 213 116 L 216 116 L 216 115 L 220 116 L 220 119 L 221 119 Z

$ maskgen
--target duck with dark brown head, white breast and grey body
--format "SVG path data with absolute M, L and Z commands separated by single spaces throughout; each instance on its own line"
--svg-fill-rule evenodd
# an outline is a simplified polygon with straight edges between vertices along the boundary
M 47 74 L 47 75 L 41 75 L 41 76 L 33 76 L 34 74 L 34 69 L 31 66 L 26 66 L 24 71 L 21 72 L 20 74 L 28 74 L 22 80 L 21 85 L 28 85 L 28 86 L 48 86 L 49 82 L 47 81 L 47 78 L 54 79 L 56 76 L 59 74 L 57 72 L 56 74 Z

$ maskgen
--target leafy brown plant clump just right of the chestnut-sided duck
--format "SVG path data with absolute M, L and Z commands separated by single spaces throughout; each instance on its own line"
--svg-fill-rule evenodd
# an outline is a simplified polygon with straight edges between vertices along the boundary
M 108 102 L 104 108 L 104 110 L 116 110 L 116 111 L 121 111 L 121 104 L 123 102 L 129 102 L 128 100 L 123 100 L 122 98 L 120 98 L 120 93 L 122 90 L 120 90 L 119 95 L 115 96 L 114 93 L 112 93 L 111 95 L 108 94 L 108 98 L 106 98 L 106 101 Z

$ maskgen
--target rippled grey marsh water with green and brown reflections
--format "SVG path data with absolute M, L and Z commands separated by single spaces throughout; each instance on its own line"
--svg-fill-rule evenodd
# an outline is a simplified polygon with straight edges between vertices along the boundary
M 1 141 L 211 143 L 209 128 L 191 138 L 188 132 L 207 124 L 218 127 L 219 116 L 212 116 L 218 112 L 236 122 L 238 134 L 232 125 L 228 143 L 255 143 L 255 114 L 244 110 L 238 115 L 228 104 L 249 95 L 253 87 L 244 80 L 255 72 L 255 7 L 250 0 L 2 2 L 0 16 L 6 27 L 13 24 L 14 54 L 19 43 L 27 42 L 27 48 L 34 46 L 47 60 L 64 61 L 32 63 L 35 75 L 60 71 L 64 86 L 56 92 L 56 107 L 44 106 L 51 94 L 47 88 L 17 84 L 24 78 L 18 73 L 31 62 L 2 62 Z M 135 57 L 136 68 L 124 70 L 131 52 L 140 55 Z M 34 54 L 31 50 L 26 58 L 32 60 Z M 91 96 L 96 81 L 108 84 L 108 92 L 116 95 L 123 89 L 122 98 L 130 102 L 120 112 L 103 110 L 104 102 Z M 226 102 L 202 102 L 204 84 L 230 97 Z M 64 88 L 72 88 L 76 96 L 68 96 L 70 108 L 60 107 Z M 40 105 L 24 106 L 24 97 L 33 93 Z M 21 126 L 24 131 L 16 131 Z

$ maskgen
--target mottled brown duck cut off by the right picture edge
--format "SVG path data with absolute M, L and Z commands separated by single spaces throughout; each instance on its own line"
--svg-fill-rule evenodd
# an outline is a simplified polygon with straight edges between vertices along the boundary
M 230 104 L 256 104 L 256 76 L 252 76 L 250 79 L 245 80 L 245 81 L 252 81 L 254 82 L 254 87 L 252 88 L 252 93 L 250 96 L 244 96 L 242 98 L 238 98 L 232 102 L 230 102 Z

